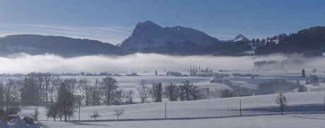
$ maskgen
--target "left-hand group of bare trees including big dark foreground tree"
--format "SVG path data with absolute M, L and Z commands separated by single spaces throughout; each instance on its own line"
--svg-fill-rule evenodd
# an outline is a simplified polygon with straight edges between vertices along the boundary
M 85 105 L 119 105 L 122 98 L 126 104 L 133 103 L 134 91 L 118 90 L 117 81 L 112 77 L 96 79 L 90 83 L 87 79 L 77 81 L 76 78 L 54 78 L 49 73 L 32 72 L 23 80 L 8 79 L 0 82 L 0 117 L 16 114 L 19 106 L 49 106 L 47 117 L 73 117 L 76 108 L 76 91 L 80 91 Z M 79 101 L 78 103 L 81 103 Z M 6 117 L 6 116 L 5 116 Z M 5 119 L 4 119 L 5 120 Z

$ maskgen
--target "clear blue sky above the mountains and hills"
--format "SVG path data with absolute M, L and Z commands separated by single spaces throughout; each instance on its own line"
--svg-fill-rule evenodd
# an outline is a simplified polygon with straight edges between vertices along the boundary
M 325 25 L 324 5 L 323 0 L 0 0 L 0 37 L 63 35 L 116 45 L 136 23 L 153 21 L 201 30 L 219 40 L 238 34 L 252 40 Z

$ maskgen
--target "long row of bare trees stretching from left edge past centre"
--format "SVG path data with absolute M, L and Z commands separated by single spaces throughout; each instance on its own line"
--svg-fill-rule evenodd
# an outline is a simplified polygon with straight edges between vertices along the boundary
M 177 86 L 174 83 L 153 83 L 146 86 L 146 81 L 139 82 L 138 96 L 141 103 L 203 99 L 203 90 L 189 81 Z M 134 103 L 136 91 L 122 91 L 117 80 L 105 77 L 90 82 L 86 78 L 62 79 L 49 73 L 31 72 L 23 80 L 8 79 L 0 82 L 0 117 L 20 112 L 22 106 L 48 106 L 47 117 L 67 120 L 74 117 L 73 112 L 81 105 L 121 105 Z M 80 96 L 76 92 L 80 92 Z M 149 100 L 152 99 L 152 100 Z M 6 119 L 3 119 L 6 120 Z

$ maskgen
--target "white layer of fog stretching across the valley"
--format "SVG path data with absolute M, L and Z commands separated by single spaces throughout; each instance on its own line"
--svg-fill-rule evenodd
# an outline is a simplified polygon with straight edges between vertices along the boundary
M 186 72 L 190 65 L 200 66 L 201 69 L 218 70 L 241 70 L 251 71 L 254 69 L 254 62 L 257 61 L 286 61 L 280 70 L 301 71 L 305 69 L 312 71 L 324 71 L 324 57 L 303 58 L 301 56 L 283 57 L 281 54 L 268 56 L 249 57 L 208 57 L 208 56 L 187 56 L 175 57 L 162 54 L 131 54 L 123 57 L 111 57 L 105 55 L 63 58 L 54 54 L 29 55 L 13 54 L 9 57 L 0 57 L 0 74 L 28 74 L 31 71 L 50 73 L 80 73 L 81 71 L 97 73 L 109 71 L 135 71 L 142 73 L 148 71 L 158 74 L 162 71 Z M 288 62 L 288 60 L 290 60 Z M 297 61 L 298 60 L 298 61 Z M 292 62 L 292 63 L 291 63 Z M 275 68 L 279 70 L 278 68 Z M 272 68 L 268 68 L 272 70 Z

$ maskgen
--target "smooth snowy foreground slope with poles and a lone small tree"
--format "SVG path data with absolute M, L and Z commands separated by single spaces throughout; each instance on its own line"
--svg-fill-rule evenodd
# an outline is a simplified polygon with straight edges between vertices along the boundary
M 275 100 L 278 94 L 210 100 L 144 103 L 134 105 L 82 106 L 68 122 L 54 121 L 40 110 L 40 121 L 25 127 L 324 127 L 324 91 L 285 93 L 288 107 L 284 115 Z M 240 101 L 242 112 L 240 115 Z M 23 107 L 21 113 L 31 113 L 35 107 Z M 116 109 L 126 109 L 124 115 L 112 115 Z M 89 117 L 97 110 L 102 117 Z M 58 120 L 58 119 L 57 119 Z M 20 124 L 13 121 L 11 126 Z M 4 123 L 0 123 L 3 127 Z M 20 125 L 16 125 L 19 127 Z

